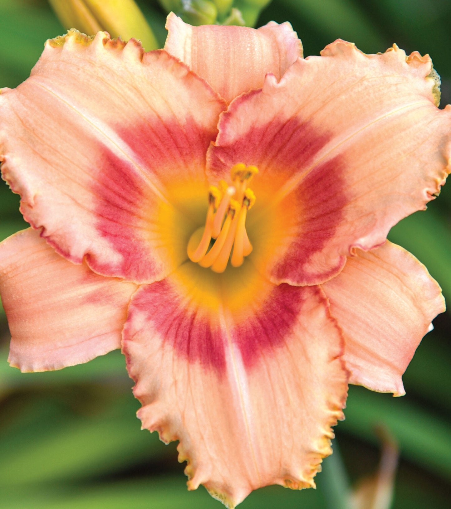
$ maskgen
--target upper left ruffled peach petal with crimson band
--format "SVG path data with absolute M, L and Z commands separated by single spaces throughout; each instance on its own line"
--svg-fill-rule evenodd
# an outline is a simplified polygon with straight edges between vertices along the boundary
M 64 257 L 154 281 L 187 258 L 161 217 L 191 221 L 180 190 L 205 182 L 224 107 L 165 51 L 72 31 L 0 95 L 2 172 L 26 220 Z

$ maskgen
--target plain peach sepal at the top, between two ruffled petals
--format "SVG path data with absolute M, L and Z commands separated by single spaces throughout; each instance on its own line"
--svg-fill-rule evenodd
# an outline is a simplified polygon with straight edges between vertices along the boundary
M 280 79 L 302 56 L 302 43 L 288 22 L 246 26 L 191 26 L 174 13 L 166 23 L 165 49 L 206 79 L 227 102 L 263 86 L 266 73 Z

